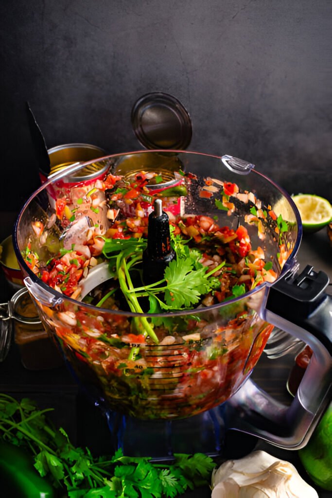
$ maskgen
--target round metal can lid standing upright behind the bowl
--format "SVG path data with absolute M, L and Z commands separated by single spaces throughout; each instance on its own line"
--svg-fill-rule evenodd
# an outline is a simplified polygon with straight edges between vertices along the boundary
M 178 99 L 163 92 L 140 97 L 131 110 L 131 124 L 139 142 L 148 149 L 185 150 L 191 142 L 188 111 Z

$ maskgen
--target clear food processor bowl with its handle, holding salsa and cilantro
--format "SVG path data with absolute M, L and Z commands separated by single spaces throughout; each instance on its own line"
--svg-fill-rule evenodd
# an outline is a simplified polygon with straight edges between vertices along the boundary
M 103 182 L 66 192 L 70 216 L 58 212 L 55 225 L 47 189 L 68 170 L 38 189 L 19 215 L 15 251 L 44 325 L 81 383 L 110 410 L 143 421 L 177 421 L 208 410 L 220 421 L 225 412 L 229 428 L 282 447 L 303 446 L 329 397 L 331 297 L 324 292 L 325 274 L 310 269 L 297 275 L 302 227 L 292 199 L 253 165 L 231 156 L 130 154 L 142 170 L 147 158 L 151 164 L 160 156 L 183 165 L 188 194 L 181 198 L 181 213 L 174 214 L 174 191 L 151 194 L 145 173 L 130 181 L 113 174 L 124 155 L 105 159 L 111 173 Z M 158 172 L 152 176 L 157 179 Z M 89 209 L 96 216 L 101 203 L 106 211 L 105 187 L 110 226 L 102 230 L 95 223 L 84 244 L 63 248 L 63 230 L 89 216 Z M 143 205 L 151 213 L 161 197 L 176 258 L 162 283 L 136 285 L 133 277 L 142 266 L 144 279 L 156 277 L 146 270 L 144 275 L 148 239 L 168 225 L 157 202 L 149 222 L 157 224 L 155 233 L 150 225 L 147 231 Z M 44 227 L 39 236 L 36 221 Z M 158 240 L 166 237 L 162 249 L 169 255 L 168 232 L 162 234 Z M 54 238 L 57 249 L 50 244 Z M 94 301 L 96 285 L 108 285 L 101 288 L 110 295 L 107 306 L 105 295 Z M 150 312 L 142 312 L 139 299 L 147 296 Z M 119 305 L 123 297 L 129 309 Z M 272 324 L 313 350 L 290 407 L 248 379 Z

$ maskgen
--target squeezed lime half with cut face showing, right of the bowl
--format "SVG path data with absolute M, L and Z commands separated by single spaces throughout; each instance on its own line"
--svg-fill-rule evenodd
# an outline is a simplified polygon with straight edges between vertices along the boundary
M 294 195 L 292 199 L 300 212 L 306 232 L 317 232 L 330 223 L 332 206 L 327 199 L 311 194 Z

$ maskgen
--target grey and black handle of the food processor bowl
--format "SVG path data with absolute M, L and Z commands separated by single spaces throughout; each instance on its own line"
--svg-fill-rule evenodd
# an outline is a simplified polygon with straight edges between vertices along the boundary
M 290 450 L 307 444 L 332 393 L 332 297 L 324 292 L 328 283 L 325 273 L 307 266 L 271 287 L 263 318 L 308 344 L 313 356 L 290 406 L 246 381 L 227 403 L 228 428 Z

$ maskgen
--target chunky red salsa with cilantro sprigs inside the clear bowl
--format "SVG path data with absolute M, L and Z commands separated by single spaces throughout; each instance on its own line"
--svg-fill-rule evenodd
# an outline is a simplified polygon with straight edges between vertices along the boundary
M 229 216 L 236 203 L 246 206 L 244 222 L 262 242 L 255 248 L 243 224 L 230 228 L 217 215 L 185 213 L 183 200 L 197 179 L 179 171 L 175 180 L 164 188 L 160 172 L 142 170 L 78 184 L 56 199 L 48 220 L 32 222 L 23 253 L 44 283 L 76 300 L 38 305 L 77 375 L 111 409 L 140 418 L 194 415 L 236 391 L 273 328 L 245 294 L 273 282 L 289 255 L 287 222 L 253 193 L 210 177 L 197 190 L 199 199 Z M 175 257 L 162 278 L 147 283 L 142 260 L 155 199 L 169 217 Z M 275 233 L 276 261 L 263 249 L 267 224 Z M 44 261 L 39 248 L 55 226 L 59 247 Z M 82 295 L 85 279 L 101 264 L 109 279 Z

